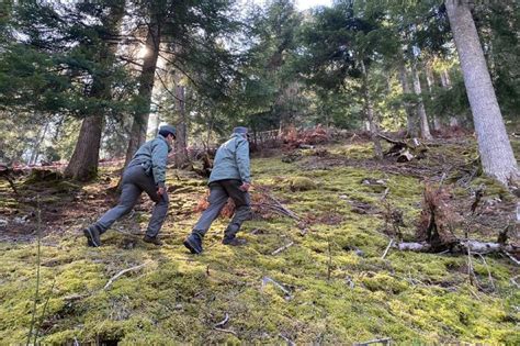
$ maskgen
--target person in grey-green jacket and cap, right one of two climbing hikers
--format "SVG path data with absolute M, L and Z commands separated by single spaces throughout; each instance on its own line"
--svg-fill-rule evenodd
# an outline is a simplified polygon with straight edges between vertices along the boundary
M 221 213 L 228 198 L 235 202 L 235 214 L 224 232 L 222 243 L 234 246 L 245 244 L 245 241 L 237 238 L 236 235 L 251 212 L 248 193 L 250 185 L 247 127 L 235 127 L 231 138 L 221 145 L 215 155 L 208 181 L 210 198 L 207 201 L 210 205 L 183 243 L 192 254 L 202 253 L 202 238 Z

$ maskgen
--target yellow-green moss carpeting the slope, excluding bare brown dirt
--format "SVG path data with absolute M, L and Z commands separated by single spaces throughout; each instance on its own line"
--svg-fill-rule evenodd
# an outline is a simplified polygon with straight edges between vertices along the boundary
M 329 149 L 357 159 L 371 155 L 368 144 Z M 166 245 L 160 248 L 143 243 L 138 233 L 149 217 L 148 202 L 115 225 L 120 232 L 109 231 L 101 248 L 86 247 L 79 231 L 106 204 L 47 233 L 38 312 L 47 299 L 48 305 L 39 341 L 281 344 L 289 338 L 297 344 L 351 344 L 391 337 L 402 344 L 520 343 L 520 293 L 510 281 L 518 270 L 508 259 L 488 256 L 487 267 L 473 259 L 482 289 L 470 283 L 465 256 L 391 249 L 381 259 L 389 241 L 381 232 L 381 191 L 361 180 L 385 179 L 387 199 L 403 210 L 404 232 L 411 235 L 420 211 L 419 179 L 354 166 L 303 170 L 301 165 L 258 158 L 252 171 L 255 183 L 269 186 L 295 213 L 314 217 L 305 235 L 287 217 L 255 220 L 241 232 L 247 246 L 226 247 L 221 239 L 227 220 L 217 220 L 204 239 L 205 253 L 192 256 L 182 239 L 199 216 L 191 211 L 205 192 L 204 181 L 179 181 L 173 175 L 170 186 L 190 188 L 170 193 L 170 215 L 162 228 Z M 102 201 L 95 199 L 105 187 L 100 181 L 111 175 L 104 170 L 98 182 L 82 187 L 82 198 Z M 286 181 L 294 177 L 307 177 L 317 188 L 291 191 Z M 352 203 L 364 203 L 373 212 L 355 213 Z M 271 255 L 290 242 L 294 245 Z M 0 243 L 0 341 L 24 343 L 36 243 Z M 115 274 L 140 264 L 146 265 L 103 289 Z M 270 281 L 262 283 L 265 277 L 290 293 Z M 214 328 L 226 314 L 229 321 L 223 328 L 234 334 Z

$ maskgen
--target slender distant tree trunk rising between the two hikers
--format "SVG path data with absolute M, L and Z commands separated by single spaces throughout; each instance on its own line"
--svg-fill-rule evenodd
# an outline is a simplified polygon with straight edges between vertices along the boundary
M 186 147 L 186 111 L 185 111 L 185 89 L 181 83 L 181 75 L 176 72 L 176 110 L 178 113 L 177 138 L 176 138 L 176 167 L 183 168 L 190 163 Z

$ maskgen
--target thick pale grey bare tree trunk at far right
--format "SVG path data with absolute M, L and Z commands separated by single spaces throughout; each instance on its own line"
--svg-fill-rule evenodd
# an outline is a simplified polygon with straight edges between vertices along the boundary
M 445 7 L 470 99 L 484 172 L 507 185 L 509 179 L 518 178 L 517 160 L 467 0 L 446 0 Z

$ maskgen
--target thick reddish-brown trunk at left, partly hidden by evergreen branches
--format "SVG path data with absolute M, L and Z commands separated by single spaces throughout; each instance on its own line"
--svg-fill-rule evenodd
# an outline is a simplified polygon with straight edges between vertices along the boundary
M 106 46 L 100 52 L 100 63 L 110 64 L 117 44 L 113 43 L 113 37 L 117 35 L 121 20 L 123 19 L 125 0 L 114 1 L 111 5 L 111 14 L 104 23 L 109 35 L 104 37 Z M 109 76 L 94 76 L 92 89 L 89 97 L 99 99 L 110 99 L 110 83 L 103 80 Z M 104 114 L 92 114 L 83 119 L 78 141 L 72 153 L 65 176 L 75 180 L 87 181 L 98 174 L 99 156 L 101 148 L 101 134 L 103 133 Z

